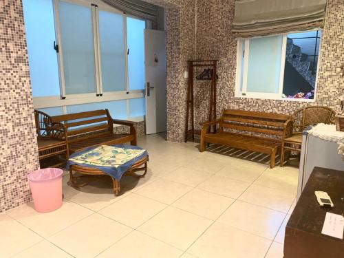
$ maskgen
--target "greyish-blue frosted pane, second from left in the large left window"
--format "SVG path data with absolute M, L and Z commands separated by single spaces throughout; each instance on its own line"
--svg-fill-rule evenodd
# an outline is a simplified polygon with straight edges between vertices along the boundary
M 91 8 L 60 1 L 59 10 L 65 92 L 96 92 Z

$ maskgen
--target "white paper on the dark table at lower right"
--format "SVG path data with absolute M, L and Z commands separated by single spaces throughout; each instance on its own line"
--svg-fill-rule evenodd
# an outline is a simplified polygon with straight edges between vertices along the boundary
M 323 230 L 321 234 L 330 235 L 343 239 L 344 232 L 344 217 L 334 213 L 326 213 L 325 222 L 323 223 Z

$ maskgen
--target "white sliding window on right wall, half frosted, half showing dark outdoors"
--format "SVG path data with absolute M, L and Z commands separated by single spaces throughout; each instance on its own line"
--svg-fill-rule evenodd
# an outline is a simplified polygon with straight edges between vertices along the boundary
M 238 42 L 236 96 L 314 99 L 321 31 Z

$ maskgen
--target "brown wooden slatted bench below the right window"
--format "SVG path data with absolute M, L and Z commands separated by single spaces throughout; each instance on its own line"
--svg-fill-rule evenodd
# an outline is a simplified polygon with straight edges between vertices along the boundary
M 290 116 L 230 109 L 224 110 L 219 120 L 201 125 L 200 151 L 205 151 L 206 143 L 213 143 L 266 153 L 270 155 L 271 168 L 283 139 L 292 132 Z M 212 125 L 219 125 L 217 133 L 207 132 Z

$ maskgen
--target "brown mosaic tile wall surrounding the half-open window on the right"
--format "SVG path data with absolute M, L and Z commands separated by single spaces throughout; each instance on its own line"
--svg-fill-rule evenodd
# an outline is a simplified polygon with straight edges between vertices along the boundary
M 327 0 L 327 12 L 315 103 L 287 100 L 235 98 L 237 43 L 230 34 L 234 0 L 197 0 L 197 58 L 219 59 L 217 83 L 217 113 L 224 108 L 292 114 L 304 105 L 326 105 L 340 110 L 338 96 L 344 94 L 344 0 Z M 197 82 L 195 89 L 195 125 L 206 120 L 208 88 Z

